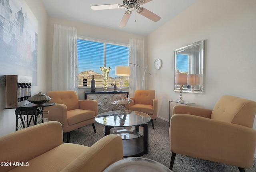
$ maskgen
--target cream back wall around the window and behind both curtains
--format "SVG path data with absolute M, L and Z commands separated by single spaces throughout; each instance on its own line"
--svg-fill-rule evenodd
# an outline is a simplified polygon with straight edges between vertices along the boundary
M 52 42 L 53 42 L 53 25 L 54 24 L 61 24 L 64 26 L 74 26 L 77 29 L 77 35 L 79 36 L 85 36 L 89 38 L 96 38 L 96 39 L 101 39 L 101 40 L 108 40 L 112 42 L 121 42 L 121 43 L 126 43 L 129 44 L 129 38 L 134 38 L 134 39 L 139 39 L 139 40 L 144 40 L 145 44 L 145 54 L 147 54 L 147 37 L 146 36 L 139 36 L 135 34 L 130 34 L 126 32 L 120 32 L 116 30 L 111 30 L 107 28 L 102 28 L 98 26 L 92 26 L 89 24 L 83 24 L 79 22 L 74 22 L 70 20 L 64 20 L 60 18 L 54 18 L 54 17 L 49 17 L 49 22 L 48 22 L 48 51 L 47 51 L 47 57 L 48 57 L 48 65 L 47 65 L 47 76 L 48 77 L 48 87 L 47 90 L 51 90 L 51 83 L 52 83 Z M 110 69 L 111 70 L 111 69 Z M 86 89 L 79 89 L 78 90 L 78 98 L 84 99 L 84 92 L 85 91 L 90 91 Z

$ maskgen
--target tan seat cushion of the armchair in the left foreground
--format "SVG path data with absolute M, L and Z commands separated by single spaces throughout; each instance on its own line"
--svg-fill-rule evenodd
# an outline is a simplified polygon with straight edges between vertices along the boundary
M 59 172 L 89 147 L 64 143 L 28 161 L 28 166 L 18 166 L 10 172 Z M 26 162 L 25 162 L 26 164 Z

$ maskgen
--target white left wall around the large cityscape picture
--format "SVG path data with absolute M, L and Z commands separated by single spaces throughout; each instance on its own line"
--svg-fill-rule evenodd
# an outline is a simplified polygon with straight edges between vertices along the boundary
M 48 14 L 41 0 L 25 0 L 25 2 L 38 20 L 38 85 L 32 86 L 31 95 L 34 95 L 39 91 L 46 92 L 46 27 Z M 16 116 L 14 114 L 15 109 L 4 109 L 5 87 L 0 87 L 0 95 L 0 136 L 4 136 L 15 131 Z

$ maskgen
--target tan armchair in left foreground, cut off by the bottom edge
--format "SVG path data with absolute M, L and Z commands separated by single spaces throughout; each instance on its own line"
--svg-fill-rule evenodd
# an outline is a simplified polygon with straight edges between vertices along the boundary
M 102 172 L 123 158 L 120 136 L 110 134 L 91 147 L 63 143 L 56 121 L 0 137 L 0 152 L 0 162 L 11 164 L 1 166 L 1 172 Z

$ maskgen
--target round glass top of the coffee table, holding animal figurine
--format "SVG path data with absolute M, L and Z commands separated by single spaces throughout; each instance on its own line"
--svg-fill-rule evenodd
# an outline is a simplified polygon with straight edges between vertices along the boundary
M 105 126 L 127 127 L 145 124 L 151 120 L 148 114 L 138 111 L 126 111 L 126 115 L 118 116 L 120 110 L 103 112 L 95 117 L 95 121 Z

